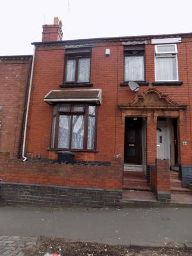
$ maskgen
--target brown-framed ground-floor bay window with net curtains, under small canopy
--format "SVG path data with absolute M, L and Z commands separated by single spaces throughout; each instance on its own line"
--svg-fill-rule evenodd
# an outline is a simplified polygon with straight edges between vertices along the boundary
M 95 105 L 57 104 L 53 107 L 51 148 L 86 150 L 95 149 Z

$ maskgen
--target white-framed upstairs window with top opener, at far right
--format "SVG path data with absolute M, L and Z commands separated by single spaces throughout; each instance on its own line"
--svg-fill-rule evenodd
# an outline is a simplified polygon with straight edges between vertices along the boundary
M 155 45 L 155 80 L 178 81 L 177 45 Z

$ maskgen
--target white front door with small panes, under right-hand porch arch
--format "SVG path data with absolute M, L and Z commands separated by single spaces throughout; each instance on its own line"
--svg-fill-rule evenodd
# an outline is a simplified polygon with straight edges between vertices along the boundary
M 157 158 L 170 160 L 170 136 L 166 120 L 158 120 L 157 124 Z

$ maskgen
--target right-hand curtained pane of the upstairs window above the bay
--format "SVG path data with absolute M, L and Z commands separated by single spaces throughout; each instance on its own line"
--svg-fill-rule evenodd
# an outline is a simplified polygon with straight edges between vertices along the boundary
M 78 60 L 78 81 L 89 82 L 90 58 L 80 58 Z

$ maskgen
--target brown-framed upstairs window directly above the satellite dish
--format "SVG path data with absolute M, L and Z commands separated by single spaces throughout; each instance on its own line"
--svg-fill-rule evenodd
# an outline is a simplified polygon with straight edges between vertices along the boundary
M 144 81 L 144 46 L 124 48 L 124 80 Z

